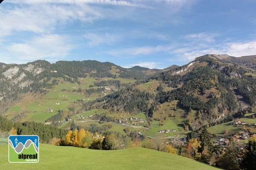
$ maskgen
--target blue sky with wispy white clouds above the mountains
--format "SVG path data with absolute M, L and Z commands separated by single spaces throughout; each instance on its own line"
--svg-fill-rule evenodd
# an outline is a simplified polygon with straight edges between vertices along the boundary
M 4 0 L 0 62 L 45 59 L 166 68 L 256 55 L 255 0 Z

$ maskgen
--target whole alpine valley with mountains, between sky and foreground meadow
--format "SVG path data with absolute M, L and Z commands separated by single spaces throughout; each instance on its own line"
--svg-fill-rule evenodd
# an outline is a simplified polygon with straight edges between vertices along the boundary
M 189 155 L 184 145 L 204 130 L 218 146 L 231 139 L 247 142 L 256 133 L 255 104 L 256 55 L 207 54 L 162 70 L 95 60 L 0 63 L 0 119 L 6 122 L 0 122 L 1 132 L 36 134 L 41 143 L 57 138 L 61 145 L 68 130 L 79 134 L 84 129 L 98 139 L 115 138 L 115 144 L 104 139 L 97 149 L 164 150 L 157 139 L 168 139 L 180 144 L 173 149 L 184 156 Z M 34 126 L 55 132 L 29 130 Z M 186 156 L 211 164 L 212 157 L 203 157 L 203 151 L 198 150 L 200 158 L 194 152 Z

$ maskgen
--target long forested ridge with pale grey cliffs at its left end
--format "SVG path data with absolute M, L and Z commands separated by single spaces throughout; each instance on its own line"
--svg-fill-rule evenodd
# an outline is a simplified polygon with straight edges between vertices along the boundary
M 79 82 L 79 77 L 141 79 L 157 71 L 140 67 L 122 68 L 111 62 L 95 60 L 58 61 L 53 64 L 45 60 L 21 65 L 0 63 L 0 104 L 4 111 L 19 98 L 18 94 L 44 93 L 44 88 L 52 86 L 49 83 L 51 77 L 62 77 L 69 82 Z

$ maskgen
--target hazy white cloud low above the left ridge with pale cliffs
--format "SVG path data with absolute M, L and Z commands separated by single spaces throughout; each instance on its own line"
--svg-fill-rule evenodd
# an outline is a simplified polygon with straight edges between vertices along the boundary
M 24 61 L 36 59 L 63 59 L 75 47 L 69 43 L 68 37 L 58 34 L 47 34 L 34 37 L 23 43 L 5 45 L 3 48 L 5 51 L 0 52 L 1 56 L 8 54 L 12 58 L 16 58 L 16 63 L 21 61 L 24 63 Z

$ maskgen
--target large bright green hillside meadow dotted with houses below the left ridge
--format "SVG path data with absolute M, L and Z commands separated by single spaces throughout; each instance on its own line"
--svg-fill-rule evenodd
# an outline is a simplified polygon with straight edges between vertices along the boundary
M 23 96 L 23 99 L 4 112 L 9 119 L 12 119 L 15 115 L 24 113 L 24 116 L 20 118 L 20 121 L 35 121 L 44 122 L 49 117 L 55 115 L 58 110 L 68 111 L 67 108 L 73 105 L 75 100 L 89 99 L 93 100 L 98 97 L 96 94 L 86 96 L 73 90 L 77 90 L 79 85 L 77 83 L 70 83 L 64 81 L 62 78 L 58 78 L 58 85 L 54 85 L 51 89 L 46 89 L 46 94 L 31 95 L 27 94 Z M 52 79 L 49 83 L 52 82 Z M 89 85 L 93 85 L 96 79 L 81 79 L 81 88 L 89 88 Z M 47 111 L 52 109 L 52 111 Z M 77 109 L 77 107 L 76 107 Z

